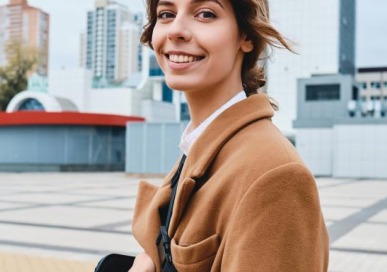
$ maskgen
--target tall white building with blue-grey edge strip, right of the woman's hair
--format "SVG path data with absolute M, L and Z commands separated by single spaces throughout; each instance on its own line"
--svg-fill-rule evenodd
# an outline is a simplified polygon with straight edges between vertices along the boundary
M 312 75 L 354 74 L 354 0 L 270 0 L 271 22 L 294 42 L 297 54 L 275 50 L 268 61 L 267 92 L 279 103 L 274 122 L 292 132 L 297 79 Z

